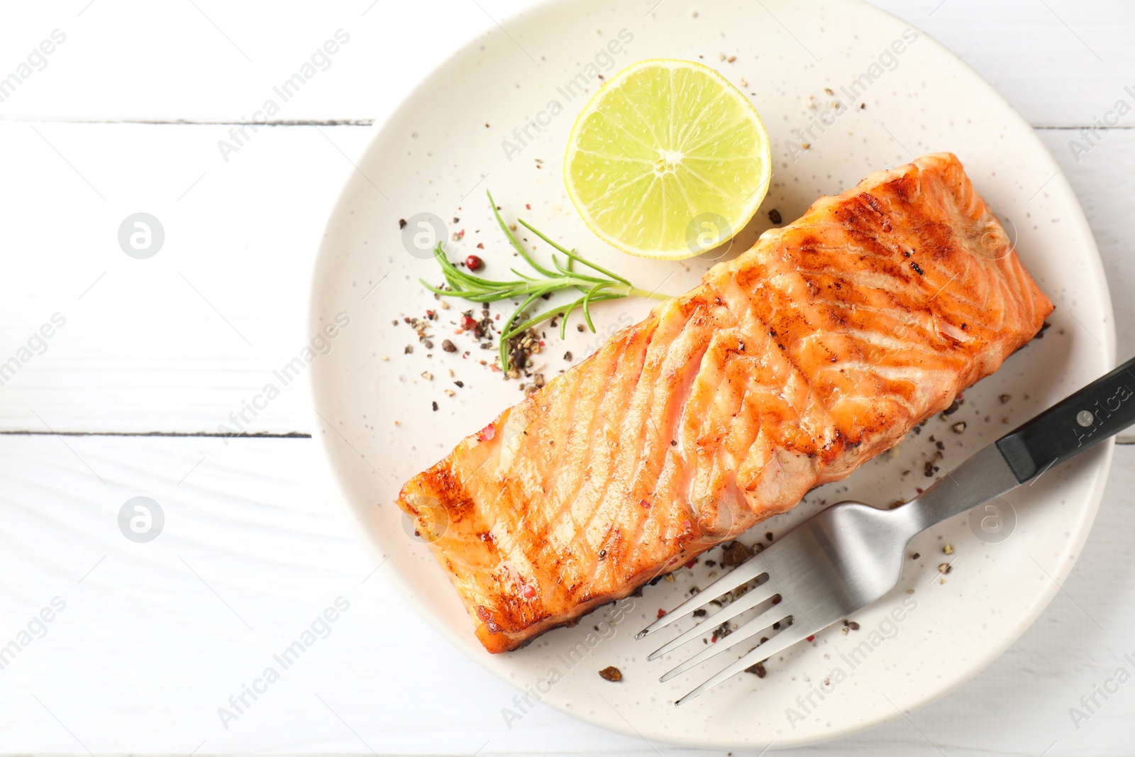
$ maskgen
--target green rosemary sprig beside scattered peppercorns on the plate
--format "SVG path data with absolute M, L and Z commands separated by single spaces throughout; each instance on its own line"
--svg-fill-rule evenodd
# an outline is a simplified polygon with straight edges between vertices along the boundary
M 587 327 L 594 333 L 595 323 L 591 322 L 591 304 L 596 302 L 604 302 L 606 300 L 619 300 L 622 297 L 650 297 L 654 300 L 669 300 L 669 294 L 658 294 L 657 292 L 647 292 L 646 289 L 640 289 L 632 285 L 629 280 L 608 271 L 600 266 L 592 263 L 586 258 L 581 256 L 575 252 L 575 250 L 568 250 L 560 244 L 556 244 L 547 236 L 538 232 L 528 221 L 522 218 L 518 218 L 516 221 L 527 228 L 529 232 L 538 236 L 540 239 L 552 245 L 556 251 L 563 253 L 566 258 L 566 262 L 561 262 L 561 259 L 556 256 L 555 253 L 552 254 L 552 264 L 555 270 L 550 270 L 540 266 L 536 262 L 524 247 L 516 241 L 508 226 L 501 218 L 501 211 L 497 209 L 496 203 L 493 201 L 493 194 L 486 192 L 485 194 L 489 197 L 489 204 L 493 207 L 493 215 L 497 219 L 497 224 L 501 226 L 501 230 L 504 232 L 505 237 L 507 237 L 508 243 L 513 249 L 524 259 L 532 269 L 539 274 L 540 277 L 527 276 L 521 274 L 515 268 L 511 269 L 513 274 L 519 277 L 519 280 L 513 281 L 494 281 L 480 276 L 473 276 L 466 271 L 459 269 L 449 259 L 445 256 L 445 250 L 442 243 L 438 242 L 437 246 L 434 247 L 434 259 L 437 260 L 438 264 L 442 267 L 442 274 L 445 276 L 445 281 L 448 288 L 437 288 L 430 286 L 427 281 L 419 279 L 427 289 L 446 297 L 461 297 L 463 300 L 470 300 L 472 302 L 497 302 L 501 300 L 519 300 L 523 298 L 523 302 L 516 310 L 513 311 L 508 320 L 505 321 L 504 327 L 501 329 L 501 369 L 504 371 L 505 376 L 508 373 L 508 340 L 518 334 L 523 334 L 528 329 L 532 328 L 537 323 L 548 320 L 549 318 L 561 317 L 560 322 L 560 338 L 564 338 L 564 333 L 568 328 L 568 317 L 579 308 L 583 312 L 583 320 L 587 322 Z M 574 269 L 574 263 L 580 263 L 591 269 L 594 272 L 582 272 Z M 533 303 L 537 298 L 545 295 L 560 292 L 562 289 L 570 289 L 574 287 L 581 292 L 581 296 L 572 300 L 571 302 L 561 305 L 558 308 L 553 308 L 538 316 L 533 316 L 522 323 L 516 323 L 516 320 L 521 314 Z

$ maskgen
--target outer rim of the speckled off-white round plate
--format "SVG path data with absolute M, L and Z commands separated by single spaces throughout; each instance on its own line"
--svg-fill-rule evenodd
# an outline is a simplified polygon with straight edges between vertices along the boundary
M 842 3 L 846 6 L 855 7 L 859 12 L 863 14 L 876 14 L 880 18 L 888 19 L 888 22 L 898 22 L 911 28 L 915 28 L 919 39 L 925 41 L 927 47 L 933 47 L 939 53 L 944 54 L 957 66 L 957 72 L 961 75 L 968 76 L 976 86 L 985 87 L 990 94 L 992 94 L 999 102 L 1004 107 L 1003 115 L 1007 120 L 1011 121 L 1011 125 L 1024 135 L 1023 138 L 1031 140 L 1035 148 L 1039 148 L 1039 152 L 1044 155 L 1046 160 L 1045 173 L 1052 174 L 1052 179 L 1049 183 L 1049 187 L 1052 192 L 1059 193 L 1062 196 L 1061 204 L 1067 210 L 1066 220 L 1077 228 L 1079 236 L 1083 237 L 1085 244 L 1087 245 L 1086 252 L 1087 262 L 1091 270 L 1087 271 L 1088 276 L 1096 280 L 1100 286 L 1094 293 L 1102 304 L 1103 311 L 1107 313 L 1107 318 L 1100 325 L 1103 329 L 1103 350 L 1105 352 L 1105 359 L 1108 364 L 1115 364 L 1115 353 L 1116 353 L 1116 335 L 1115 335 L 1115 319 L 1113 311 L 1111 306 L 1111 296 L 1107 286 L 1107 278 L 1103 271 L 1103 264 L 1099 256 L 1099 251 L 1095 245 L 1094 236 L 1092 234 L 1091 227 L 1087 224 L 1087 219 L 1084 216 L 1083 209 L 1076 199 L 1075 193 L 1071 190 L 1070 184 L 1065 177 L 1063 173 L 1056 160 L 1048 152 L 1048 149 L 1035 135 L 1032 126 L 1016 111 L 1016 109 L 1006 100 L 997 90 L 986 82 L 976 70 L 974 70 L 968 64 L 961 60 L 951 50 L 945 48 L 943 44 L 934 40 L 930 34 L 920 30 L 914 24 L 906 22 L 896 17 L 876 6 L 869 5 L 865 0 L 834 0 L 836 3 Z M 476 37 L 470 39 L 464 45 L 454 50 L 449 56 L 447 56 L 440 64 L 438 64 L 426 77 L 423 77 L 418 85 L 403 99 L 397 107 L 392 109 L 387 118 L 382 121 L 376 121 L 370 128 L 370 136 L 368 138 L 368 144 L 363 149 L 363 155 L 368 154 L 375 149 L 378 136 L 387 128 L 387 126 L 394 121 L 401 113 L 402 109 L 407 107 L 407 103 L 414 98 L 414 95 L 426 86 L 434 77 L 442 75 L 446 72 L 455 61 L 460 61 L 462 58 L 466 57 L 472 49 L 481 43 L 481 41 L 489 35 L 502 34 L 502 26 L 510 25 L 513 18 L 520 18 L 522 16 L 538 15 L 546 10 L 557 8 L 561 6 L 571 6 L 571 0 L 545 0 L 544 2 L 536 2 L 532 6 L 526 8 L 524 10 L 514 14 L 512 17 L 502 19 L 498 24 L 498 28 L 489 30 L 484 32 Z M 1027 133 L 1027 134 L 1026 134 Z M 340 190 L 331 213 L 328 218 L 326 225 L 326 230 L 323 237 L 319 245 L 319 251 L 316 258 L 312 272 L 312 286 L 310 289 L 309 303 L 308 303 L 308 329 L 309 333 L 316 333 L 321 325 L 325 322 L 320 318 L 320 303 L 321 303 L 321 276 L 331 275 L 331 270 L 328 268 L 328 261 L 331 256 L 333 249 L 328 242 L 329 232 L 336 226 L 337 220 L 344 212 L 347 212 L 352 203 L 352 199 L 356 196 L 360 190 L 363 188 L 368 179 L 360 176 L 358 171 L 352 173 L 345 180 L 343 188 Z M 376 564 L 380 567 L 385 564 L 388 555 L 382 552 L 376 535 L 368 529 L 365 523 L 360 516 L 360 508 L 364 508 L 368 505 L 356 504 L 352 501 L 350 493 L 347 491 L 345 481 L 335 470 L 336 456 L 339 454 L 334 447 L 336 445 L 335 437 L 333 434 L 326 434 L 327 422 L 323 415 L 319 412 L 322 403 L 321 397 L 321 386 L 318 380 L 319 372 L 312 371 L 312 380 L 310 382 L 311 388 L 311 399 L 312 399 L 312 426 L 317 428 L 319 432 L 317 436 L 320 438 L 320 447 L 323 452 L 325 461 L 328 465 L 328 471 L 330 478 L 335 482 L 335 487 L 338 494 L 338 499 L 344 507 L 348 520 L 354 524 L 359 531 L 361 541 L 364 545 L 367 552 L 372 556 Z M 781 739 L 777 740 L 772 748 L 775 750 L 802 747 L 815 743 L 823 743 L 827 741 L 833 741 L 841 739 L 878 725 L 883 725 L 888 722 L 899 718 L 906 713 L 913 712 L 914 709 L 924 707 L 938 699 L 949 695 L 962 684 L 970 681 L 978 673 L 984 671 L 989 665 L 991 665 L 997 658 L 999 658 L 1009 647 L 1011 647 L 1028 628 L 1036 621 L 1040 614 L 1045 607 L 1051 603 L 1052 598 L 1060 590 L 1060 586 L 1063 583 L 1065 579 L 1075 567 L 1076 557 L 1078 556 L 1081 549 L 1087 540 L 1091 528 L 1095 521 L 1096 513 L 1099 511 L 1100 503 L 1103 498 L 1104 487 L 1108 480 L 1108 473 L 1110 471 L 1112 454 L 1113 454 L 1115 440 L 1109 439 L 1107 443 L 1100 445 L 1100 448 L 1090 453 L 1093 459 L 1093 465 L 1091 471 L 1085 471 L 1083 478 L 1091 477 L 1091 490 L 1079 507 L 1081 518 L 1076 521 L 1074 530 L 1070 531 L 1068 540 L 1065 542 L 1065 548 L 1060 554 L 1060 560 L 1058 562 L 1057 570 L 1052 573 L 1051 578 L 1053 581 L 1049 582 L 1045 588 L 1037 591 L 1034 595 L 1033 602 L 1027 606 L 1026 611 L 1022 613 L 1015 623 L 1015 632 L 1007 634 L 1003 638 L 1003 642 L 997 646 L 992 646 L 985 650 L 984 655 L 975 656 L 966 662 L 965 670 L 960 674 L 956 675 L 952 680 L 944 683 L 938 684 L 933 688 L 926 690 L 926 692 L 915 700 L 905 701 L 905 708 L 902 710 L 896 709 L 894 712 L 886 713 L 875 717 L 873 720 L 865 720 L 857 723 L 847 723 L 842 726 L 833 727 L 831 731 L 826 732 L 821 738 L 800 738 L 800 739 Z M 466 648 L 465 640 L 448 624 L 443 622 L 443 620 L 430 609 L 423 607 L 421 600 L 414 596 L 414 590 L 411 584 L 397 572 L 384 572 L 387 581 L 411 604 L 415 611 L 426 620 L 443 638 L 453 644 L 457 649 L 462 650 L 466 656 L 473 662 L 480 664 L 481 661 L 477 658 L 474 654 L 476 650 L 470 650 Z M 488 668 L 494 675 L 505 681 L 510 685 L 516 688 L 519 691 L 523 692 L 524 689 L 520 685 L 516 680 L 504 675 L 501 671 Z M 705 739 L 672 739 L 669 737 L 653 735 L 649 733 L 644 734 L 640 730 L 631 726 L 629 723 L 619 722 L 616 720 L 612 721 L 600 721 L 598 718 L 587 717 L 579 710 L 573 710 L 561 706 L 558 703 L 549 701 L 549 706 L 571 715 L 578 720 L 590 723 L 592 725 L 598 725 L 607 730 L 612 730 L 624 735 L 646 738 L 653 741 L 673 743 L 676 746 L 695 747 L 695 748 L 717 748 L 717 749 L 729 749 L 729 748 L 753 748 L 754 742 L 750 741 L 734 741 L 734 740 L 721 740 L 714 738 Z M 708 734 L 707 734 L 708 735 Z M 759 747 L 763 747 L 765 742 L 762 742 Z

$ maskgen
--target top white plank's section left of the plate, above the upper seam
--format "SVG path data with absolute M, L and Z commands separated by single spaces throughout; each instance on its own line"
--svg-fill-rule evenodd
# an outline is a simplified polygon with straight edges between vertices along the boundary
M 385 117 L 449 51 L 523 5 L 72 0 L 12 8 L 0 28 L 9 70 L 53 30 L 66 40 L 0 102 L 0 115 L 239 123 L 258 120 L 272 99 L 279 111 L 266 116 L 268 123 L 370 121 Z M 321 54 L 328 41 L 335 52 Z M 305 65 L 313 65 L 312 75 L 285 101 L 274 87 Z

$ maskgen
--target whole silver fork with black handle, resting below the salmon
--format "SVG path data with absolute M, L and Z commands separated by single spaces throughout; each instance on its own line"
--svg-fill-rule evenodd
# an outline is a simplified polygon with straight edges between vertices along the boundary
M 902 574 L 907 545 L 917 533 L 1033 481 L 1053 465 L 1118 434 L 1135 422 L 1133 396 L 1135 359 L 982 448 L 906 505 L 894 510 L 878 510 L 860 502 L 832 505 L 659 617 L 636 639 L 653 636 L 695 611 L 705 611 L 722 595 L 765 577 L 647 656 L 656 659 L 705 636 L 707 628 L 773 603 L 659 679 L 667 681 L 746 639 L 772 632 L 674 704 L 689 701 L 890 592 Z

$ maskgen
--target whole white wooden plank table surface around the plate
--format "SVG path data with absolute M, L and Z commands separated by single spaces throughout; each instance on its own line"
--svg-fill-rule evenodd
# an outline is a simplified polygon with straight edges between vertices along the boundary
M 514 691 L 442 642 L 350 531 L 302 380 L 258 411 L 262 438 L 218 436 L 306 340 L 316 245 L 367 126 L 524 5 L 6 5 L 0 77 L 19 82 L 0 82 L 0 645 L 16 647 L 0 654 L 0 754 L 682 751 L 547 708 L 510 729 Z M 1092 145 L 1079 132 L 1119 100 L 1135 106 L 1135 5 L 878 5 L 1036 127 L 1095 232 L 1119 354 L 1135 353 L 1135 115 Z M 337 30 L 350 41 L 329 68 L 222 157 L 218 141 L 233 143 Z M 1071 140 L 1091 149 L 1076 155 Z M 150 259 L 119 246 L 135 212 L 165 229 Z M 1120 446 L 1063 591 L 987 671 L 907 720 L 804 752 L 1135 754 L 1135 682 L 1098 696 L 1078 727 L 1069 714 L 1117 667 L 1135 675 L 1133 489 L 1135 446 Z M 135 496 L 165 514 L 149 544 L 118 528 Z M 326 639 L 222 723 L 218 708 L 337 599 L 348 608 Z

